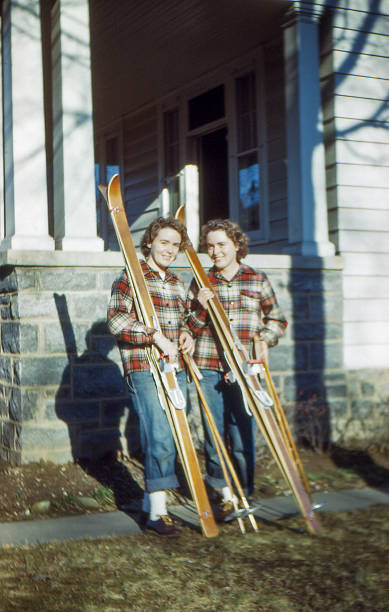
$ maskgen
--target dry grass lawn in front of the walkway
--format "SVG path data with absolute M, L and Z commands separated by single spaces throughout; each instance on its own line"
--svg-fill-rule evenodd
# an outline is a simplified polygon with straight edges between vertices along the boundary
M 0 550 L 0 610 L 332 612 L 387 610 L 389 508 L 237 525 L 207 540 L 153 535 Z

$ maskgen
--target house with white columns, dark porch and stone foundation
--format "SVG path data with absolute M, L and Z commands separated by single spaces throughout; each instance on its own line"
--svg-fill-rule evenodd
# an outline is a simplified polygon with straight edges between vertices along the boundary
M 116 172 L 138 242 L 183 202 L 195 245 L 247 231 L 297 434 L 389 434 L 388 26 L 388 0 L 3 1 L 0 457 L 120 442 Z

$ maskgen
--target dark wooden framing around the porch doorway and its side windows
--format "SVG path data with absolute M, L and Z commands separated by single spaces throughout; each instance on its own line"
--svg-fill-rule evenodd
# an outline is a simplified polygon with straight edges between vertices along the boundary
M 161 194 L 161 213 L 166 215 L 171 213 L 169 196 L 164 185 L 166 178 L 163 176 L 165 168 L 164 153 L 164 113 L 177 108 L 179 112 L 179 203 L 185 203 L 186 192 L 193 192 L 193 184 L 188 188 L 186 184 L 185 164 L 196 164 L 196 151 L 193 143 L 195 138 L 211 133 L 220 127 L 227 127 L 228 131 L 228 191 L 229 191 L 229 216 L 234 221 L 239 222 L 239 157 L 238 153 L 238 134 L 237 134 L 237 101 L 236 101 L 236 80 L 246 74 L 253 72 L 255 75 L 255 98 L 256 98 L 256 137 L 257 137 L 257 159 L 260 168 L 260 202 L 259 202 L 259 222 L 258 230 L 247 231 L 252 246 L 263 244 L 269 240 L 269 198 L 268 198 L 268 163 L 266 150 L 266 114 L 265 114 L 265 84 L 263 67 L 262 48 L 255 50 L 241 57 L 223 68 L 214 71 L 199 79 L 194 83 L 176 91 L 174 95 L 166 97 L 159 104 L 158 125 L 159 125 L 159 168 L 160 168 L 160 194 Z M 189 129 L 189 101 L 206 93 L 208 90 L 224 85 L 225 92 L 225 116 L 198 128 Z M 193 174 L 191 175 L 193 177 Z M 198 215 L 200 209 L 200 191 L 197 185 L 197 205 L 192 206 Z M 193 219 L 191 214 L 191 225 L 195 236 L 199 233 L 200 219 Z

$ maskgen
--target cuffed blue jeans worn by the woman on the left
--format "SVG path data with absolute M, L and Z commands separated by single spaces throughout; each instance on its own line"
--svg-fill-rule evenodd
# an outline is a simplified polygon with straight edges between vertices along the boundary
M 177 381 L 186 397 L 185 372 L 177 374 Z M 132 407 L 139 418 L 146 491 L 178 487 L 175 443 L 150 370 L 132 372 L 127 376 L 127 384 Z

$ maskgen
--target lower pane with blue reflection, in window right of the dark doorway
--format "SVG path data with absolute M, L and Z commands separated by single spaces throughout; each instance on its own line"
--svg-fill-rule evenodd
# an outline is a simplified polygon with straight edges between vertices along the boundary
M 239 158 L 239 225 L 246 232 L 259 225 L 259 164 L 256 153 Z

